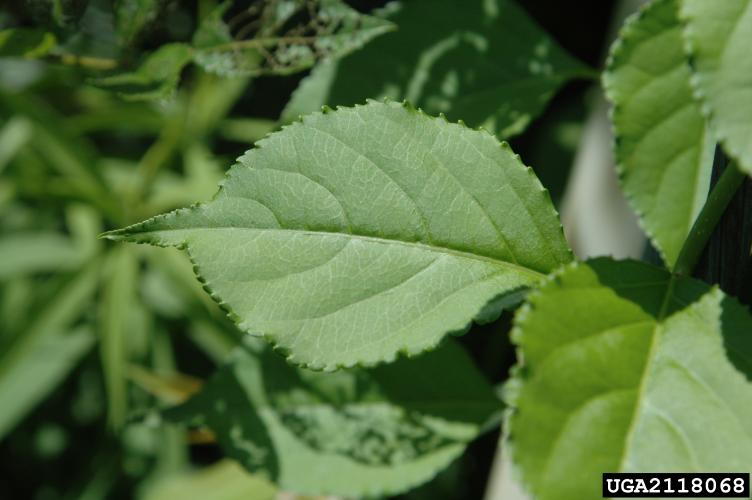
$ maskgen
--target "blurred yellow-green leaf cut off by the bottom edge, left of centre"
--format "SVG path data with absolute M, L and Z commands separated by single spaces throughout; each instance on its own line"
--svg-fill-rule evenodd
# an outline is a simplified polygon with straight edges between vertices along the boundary
M 232 460 L 222 460 L 197 471 L 176 474 L 149 487 L 144 500 L 275 500 L 277 490 L 249 474 Z

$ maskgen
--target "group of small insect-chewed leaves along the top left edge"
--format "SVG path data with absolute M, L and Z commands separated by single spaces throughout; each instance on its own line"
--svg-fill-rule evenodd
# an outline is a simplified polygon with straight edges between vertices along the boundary
M 394 28 L 340 0 L 260 0 L 242 6 L 225 0 L 205 14 L 190 43 L 138 50 L 169 7 L 164 0 L 29 0 L 20 17 L 37 24 L 0 31 L 0 56 L 59 58 L 105 73 L 92 75 L 92 83 L 124 98 L 157 99 L 173 94 L 191 62 L 222 76 L 284 75 L 343 56 Z

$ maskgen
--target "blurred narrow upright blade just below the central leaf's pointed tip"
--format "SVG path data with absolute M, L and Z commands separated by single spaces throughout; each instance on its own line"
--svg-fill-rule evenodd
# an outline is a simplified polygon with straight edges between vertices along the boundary
M 129 328 L 136 300 L 137 261 L 132 248 L 118 248 L 107 261 L 99 311 L 99 349 L 107 388 L 108 419 L 119 428 L 128 409 L 127 363 Z

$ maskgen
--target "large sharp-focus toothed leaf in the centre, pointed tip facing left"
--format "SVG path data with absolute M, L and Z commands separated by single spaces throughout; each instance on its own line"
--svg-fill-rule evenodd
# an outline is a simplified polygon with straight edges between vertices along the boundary
M 107 236 L 187 248 L 242 330 L 322 369 L 430 349 L 571 259 L 509 146 L 398 103 L 310 115 L 211 202 Z

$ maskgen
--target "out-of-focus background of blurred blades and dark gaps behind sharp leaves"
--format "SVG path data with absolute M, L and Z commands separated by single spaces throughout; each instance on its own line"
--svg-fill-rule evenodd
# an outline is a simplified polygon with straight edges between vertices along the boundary
M 361 12 L 384 4 L 347 3 Z M 601 67 L 615 3 L 519 3 Z M 211 6 L 168 2 L 124 57 L 188 40 Z M 0 27 L 34 25 L 26 12 L 0 7 Z M 100 38 L 87 43 L 104 47 L 108 33 L 92 29 Z M 0 498 L 178 498 L 201 488 L 212 492 L 202 498 L 273 497 L 206 436 L 188 444 L 178 429 L 138 418 L 194 390 L 239 333 L 179 252 L 96 236 L 209 198 L 233 160 L 279 126 L 306 74 L 220 78 L 190 66 L 174 99 L 129 102 L 89 85 L 75 65 L 0 61 Z M 511 141 L 557 204 L 594 91 L 592 81 L 567 84 Z M 494 335 L 509 320 L 461 339 L 494 383 L 514 362 L 506 337 Z M 481 498 L 497 441 L 487 433 L 401 498 Z

